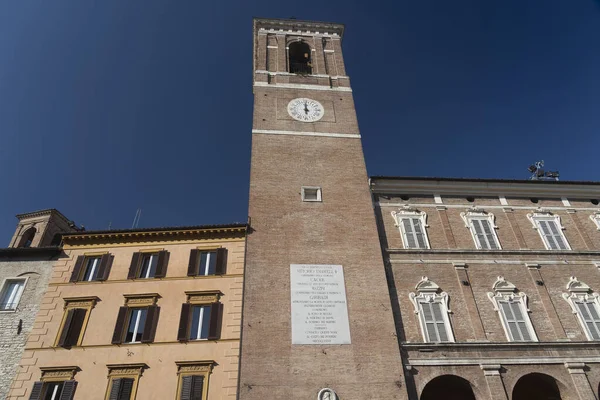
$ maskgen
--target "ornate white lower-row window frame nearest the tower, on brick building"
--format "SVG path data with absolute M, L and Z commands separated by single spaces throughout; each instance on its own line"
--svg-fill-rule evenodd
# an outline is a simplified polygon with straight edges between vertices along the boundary
M 429 335 L 427 332 L 427 326 L 425 324 L 425 318 L 423 316 L 423 312 L 421 309 L 421 303 L 438 303 L 442 306 L 442 318 L 444 319 L 444 326 L 446 328 L 446 334 L 448 335 L 448 340 L 445 342 L 435 342 L 435 343 L 454 343 L 454 332 L 452 331 L 452 324 L 450 323 L 449 314 L 452 312 L 449 308 L 448 293 L 442 292 L 440 287 L 433 281 L 431 281 L 428 277 L 424 276 L 421 278 L 419 283 L 415 286 L 415 290 L 417 293 L 409 293 L 408 298 L 413 303 L 415 307 L 415 314 L 417 314 L 419 319 L 419 325 L 421 326 L 421 333 L 423 335 L 423 341 L 425 343 L 434 343 L 430 342 Z

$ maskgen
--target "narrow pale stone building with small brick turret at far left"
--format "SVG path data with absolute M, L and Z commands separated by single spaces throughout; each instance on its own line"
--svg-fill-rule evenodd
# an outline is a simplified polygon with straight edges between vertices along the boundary
M 0 399 L 8 393 L 29 332 L 60 255 L 60 234 L 77 228 L 57 210 L 17 215 L 8 248 L 0 249 Z

